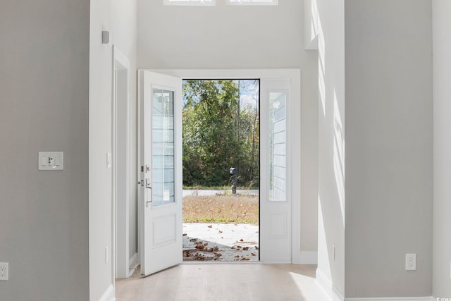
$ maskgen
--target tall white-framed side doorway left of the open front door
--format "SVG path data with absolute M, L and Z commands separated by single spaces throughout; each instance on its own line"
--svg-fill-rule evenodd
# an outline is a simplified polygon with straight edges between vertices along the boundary
M 115 278 L 130 276 L 130 61 L 113 46 L 113 240 Z

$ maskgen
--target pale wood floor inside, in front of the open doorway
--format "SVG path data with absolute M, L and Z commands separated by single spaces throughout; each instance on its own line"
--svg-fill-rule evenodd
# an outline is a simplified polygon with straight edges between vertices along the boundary
M 327 301 L 316 266 L 180 264 L 151 276 L 116 279 L 118 301 Z

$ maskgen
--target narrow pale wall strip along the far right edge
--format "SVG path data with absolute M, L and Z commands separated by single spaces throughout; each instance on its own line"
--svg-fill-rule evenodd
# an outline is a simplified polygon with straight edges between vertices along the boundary
M 451 1 L 433 0 L 433 296 L 451 296 Z

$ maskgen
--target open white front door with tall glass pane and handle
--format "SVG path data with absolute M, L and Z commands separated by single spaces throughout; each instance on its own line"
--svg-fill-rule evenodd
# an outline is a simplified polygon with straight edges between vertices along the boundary
M 141 274 L 182 262 L 182 80 L 140 70 Z

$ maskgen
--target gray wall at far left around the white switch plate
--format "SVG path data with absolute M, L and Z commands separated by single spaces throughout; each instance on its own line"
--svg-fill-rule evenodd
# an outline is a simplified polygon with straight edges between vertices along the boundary
M 0 41 L 0 298 L 88 300 L 89 1 L 4 0 Z

